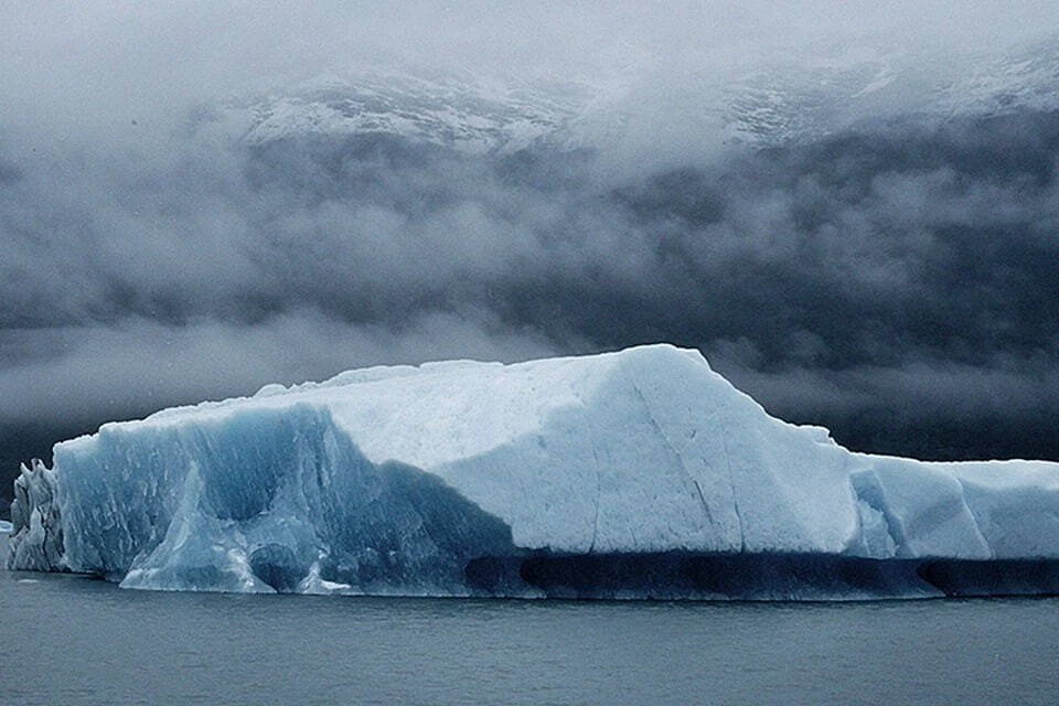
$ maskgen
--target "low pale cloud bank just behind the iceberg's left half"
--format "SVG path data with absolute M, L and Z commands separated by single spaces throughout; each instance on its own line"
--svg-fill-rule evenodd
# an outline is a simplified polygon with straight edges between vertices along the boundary
M 164 406 L 249 395 L 265 384 L 319 381 L 350 367 L 472 357 L 554 355 L 533 330 L 421 312 L 406 325 L 345 324 L 312 311 L 259 324 L 142 319 L 4 332 L 0 426 L 81 427 Z

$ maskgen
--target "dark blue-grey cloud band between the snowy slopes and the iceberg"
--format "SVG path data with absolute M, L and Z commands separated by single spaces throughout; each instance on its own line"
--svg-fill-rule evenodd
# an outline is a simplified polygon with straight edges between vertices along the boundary
M 141 411 L 360 363 L 667 340 L 802 420 L 1048 414 L 1052 114 L 889 125 L 633 184 L 588 152 L 195 139 L 127 162 L 7 150 L 7 392 L 98 400 L 138 360 L 175 364 L 140 374 L 161 391 L 119 393 Z

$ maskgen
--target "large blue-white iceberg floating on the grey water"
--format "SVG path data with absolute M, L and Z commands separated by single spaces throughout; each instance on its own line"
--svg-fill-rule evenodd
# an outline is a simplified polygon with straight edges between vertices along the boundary
M 857 598 L 1059 590 L 1059 464 L 851 452 L 695 351 L 373 367 L 24 468 L 12 568 L 161 590 Z

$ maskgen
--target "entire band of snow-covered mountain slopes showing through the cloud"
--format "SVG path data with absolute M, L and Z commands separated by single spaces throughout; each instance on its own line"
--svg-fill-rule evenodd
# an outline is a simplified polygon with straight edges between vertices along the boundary
M 674 77 L 675 76 L 675 77 Z M 964 54 L 923 47 L 810 45 L 704 61 L 682 72 L 650 60 L 621 71 L 483 78 L 373 67 L 249 95 L 203 110 L 195 129 L 244 143 L 387 135 L 471 154 L 620 147 L 666 116 L 707 142 L 771 147 L 912 116 L 928 122 L 1059 109 L 1059 35 Z M 683 129 L 683 128 L 677 128 Z M 668 137 L 668 136 L 665 136 Z

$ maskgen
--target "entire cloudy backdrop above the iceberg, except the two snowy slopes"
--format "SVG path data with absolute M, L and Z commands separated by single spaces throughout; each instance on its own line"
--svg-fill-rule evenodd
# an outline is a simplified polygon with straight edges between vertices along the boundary
M 858 448 L 1057 458 L 1055 113 L 898 101 L 761 151 L 703 118 L 755 67 L 1055 38 L 1053 2 L 494 4 L 0 0 L 4 458 L 361 365 L 653 341 Z M 632 118 L 523 161 L 189 128 L 393 66 L 577 79 Z

